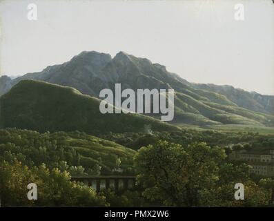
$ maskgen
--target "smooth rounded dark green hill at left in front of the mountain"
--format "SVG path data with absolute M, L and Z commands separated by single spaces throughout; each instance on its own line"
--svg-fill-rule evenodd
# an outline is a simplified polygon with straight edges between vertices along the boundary
M 101 114 L 100 100 L 70 87 L 23 80 L 0 97 L 0 125 L 45 131 L 84 131 L 92 134 L 126 131 L 177 130 L 177 127 L 139 114 Z

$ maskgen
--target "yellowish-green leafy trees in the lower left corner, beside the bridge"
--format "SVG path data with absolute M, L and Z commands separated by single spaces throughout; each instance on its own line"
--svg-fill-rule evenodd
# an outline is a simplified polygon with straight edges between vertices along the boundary
M 28 200 L 27 186 L 37 184 L 37 200 Z M 83 184 L 70 182 L 70 175 L 45 165 L 29 168 L 15 160 L 0 161 L 1 206 L 105 206 L 104 197 Z

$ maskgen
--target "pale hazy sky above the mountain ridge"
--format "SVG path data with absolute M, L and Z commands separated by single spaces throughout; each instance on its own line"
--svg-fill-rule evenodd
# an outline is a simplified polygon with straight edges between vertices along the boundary
M 61 64 L 83 50 L 146 57 L 188 81 L 274 95 L 272 0 L 0 0 L 0 74 Z M 27 19 L 36 3 L 38 20 Z M 235 4 L 244 21 L 235 21 Z

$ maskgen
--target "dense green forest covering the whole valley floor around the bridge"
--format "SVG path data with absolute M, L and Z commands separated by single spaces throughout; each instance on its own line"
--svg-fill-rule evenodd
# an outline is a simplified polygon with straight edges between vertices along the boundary
M 182 129 L 173 132 L 38 133 L 0 130 L 1 206 L 273 206 L 274 180 L 231 162 L 235 148 L 274 149 L 273 135 Z M 95 193 L 72 176 L 136 175 L 131 191 Z M 39 186 L 28 200 L 26 186 Z M 234 199 L 242 182 L 245 199 Z

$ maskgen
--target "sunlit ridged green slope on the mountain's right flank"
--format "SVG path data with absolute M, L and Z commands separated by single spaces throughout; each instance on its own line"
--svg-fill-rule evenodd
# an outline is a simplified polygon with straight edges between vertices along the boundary
M 176 124 L 274 126 L 271 115 L 239 108 L 224 95 L 190 88 L 177 80 L 168 83 L 176 91 L 173 121 Z

